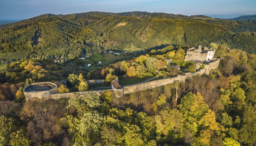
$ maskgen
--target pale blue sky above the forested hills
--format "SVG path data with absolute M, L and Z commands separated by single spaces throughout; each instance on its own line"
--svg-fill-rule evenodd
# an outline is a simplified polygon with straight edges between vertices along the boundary
M 0 0 L 0 19 L 90 11 L 147 11 L 182 15 L 256 14 L 256 0 Z

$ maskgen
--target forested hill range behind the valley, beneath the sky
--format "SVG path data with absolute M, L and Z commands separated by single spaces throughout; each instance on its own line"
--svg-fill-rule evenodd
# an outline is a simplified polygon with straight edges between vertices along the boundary
M 250 24 L 245 25 L 236 21 L 206 18 L 181 20 L 179 18 L 187 16 L 175 15 L 175 17 L 178 16 L 175 19 L 171 14 L 166 18 L 157 18 L 163 16 L 160 13 L 143 14 L 139 18 L 137 16 L 139 13 L 135 12 L 45 14 L 2 25 L 0 26 L 0 59 L 10 61 L 44 57 L 47 54 L 72 54 L 74 57 L 80 57 L 85 53 L 108 49 L 123 51 L 131 46 L 140 49 L 156 49 L 170 44 L 207 46 L 210 42 L 256 53 L 254 21 L 245 22 Z M 236 24 L 232 25 L 232 23 Z M 247 26 L 247 28 L 241 26 Z M 231 32 L 232 29 L 235 31 Z M 239 29 L 240 32 L 249 33 L 234 33 Z

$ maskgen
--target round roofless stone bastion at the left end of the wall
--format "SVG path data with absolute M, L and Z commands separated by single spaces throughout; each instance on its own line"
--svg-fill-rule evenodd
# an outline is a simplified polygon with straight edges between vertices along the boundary
M 23 93 L 26 99 L 33 97 L 48 98 L 50 94 L 58 92 L 58 86 L 52 82 L 39 82 L 32 83 L 23 89 Z

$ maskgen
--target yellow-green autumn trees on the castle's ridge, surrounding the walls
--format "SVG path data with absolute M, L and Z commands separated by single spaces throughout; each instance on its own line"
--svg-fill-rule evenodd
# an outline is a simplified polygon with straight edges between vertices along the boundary
M 51 59 L 4 62 L 0 65 L 0 144 L 255 146 L 256 55 L 220 44 L 210 47 L 216 50 L 215 57 L 222 58 L 209 76 L 121 97 L 105 91 L 100 96 L 88 93 L 74 94 L 71 99 L 26 100 L 22 89 L 30 83 L 68 78 L 74 88 L 80 84 L 80 91 L 84 79 L 107 81 L 123 74 L 143 78 L 145 71 L 158 76 L 155 70 L 171 73 L 174 70 L 164 68 L 164 59 L 174 59 L 187 68 L 191 64 L 183 60 L 190 46 L 151 50 L 90 72 Z

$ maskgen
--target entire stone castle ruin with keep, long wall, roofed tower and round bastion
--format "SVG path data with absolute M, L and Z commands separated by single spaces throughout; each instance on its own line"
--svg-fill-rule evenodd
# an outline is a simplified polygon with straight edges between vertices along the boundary
M 174 83 L 175 81 L 185 81 L 189 78 L 197 74 L 210 74 L 210 70 L 216 69 L 219 66 L 220 59 L 213 58 L 215 51 L 209 50 L 207 47 L 204 47 L 202 50 L 201 46 L 198 49 L 190 48 L 187 51 L 187 55 L 184 61 L 193 61 L 196 63 L 197 72 L 187 72 L 178 74 L 178 76 L 174 78 L 166 78 L 161 80 L 154 80 L 150 82 L 140 83 L 137 85 L 130 85 L 123 87 L 121 82 L 116 78 L 111 82 L 112 89 L 108 90 L 97 90 L 97 91 L 81 91 L 81 92 L 72 92 L 72 93 L 57 93 L 58 86 L 51 82 L 41 82 L 41 83 L 33 83 L 24 88 L 24 95 L 26 99 L 30 99 L 33 97 L 37 97 L 39 99 L 60 99 L 60 98 L 72 98 L 74 93 L 78 93 L 80 95 L 86 95 L 89 92 L 95 92 L 100 95 L 104 91 L 112 91 L 117 97 L 121 97 L 124 94 L 133 93 L 136 91 L 143 91 L 146 89 L 152 89 L 155 87 L 167 85 Z M 204 68 L 200 68 L 204 64 Z M 103 80 L 86 80 L 88 84 L 90 83 L 103 83 Z

